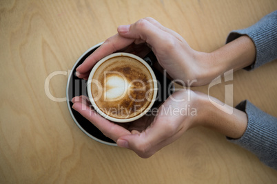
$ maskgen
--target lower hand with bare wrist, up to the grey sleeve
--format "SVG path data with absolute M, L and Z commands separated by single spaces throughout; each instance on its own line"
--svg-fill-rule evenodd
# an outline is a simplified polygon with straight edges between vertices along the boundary
M 151 115 L 147 113 L 125 124 L 116 124 L 101 117 L 90 108 L 88 97 L 74 97 L 72 102 L 72 108 L 92 122 L 106 137 L 143 158 L 152 156 L 195 126 L 212 128 L 234 139 L 241 137 L 247 127 L 247 115 L 243 111 L 233 108 L 233 113 L 227 114 L 225 111 L 229 106 L 221 106 L 219 100 L 191 90 L 176 91 L 157 112 L 152 111 Z

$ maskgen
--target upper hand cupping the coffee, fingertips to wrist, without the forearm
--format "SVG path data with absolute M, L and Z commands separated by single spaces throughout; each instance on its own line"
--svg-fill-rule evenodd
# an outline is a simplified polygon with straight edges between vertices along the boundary
M 119 26 L 118 34 L 108 38 L 96 49 L 76 69 L 76 75 L 87 79 L 90 70 L 101 58 L 130 46 L 134 49 L 134 54 L 135 51 L 152 49 L 161 67 L 183 85 L 199 86 L 214 79 L 209 54 L 195 51 L 182 36 L 152 18 Z

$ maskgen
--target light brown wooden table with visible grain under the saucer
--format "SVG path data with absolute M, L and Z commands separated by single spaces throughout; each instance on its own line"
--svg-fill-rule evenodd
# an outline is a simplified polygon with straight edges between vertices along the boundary
M 65 97 L 68 70 L 121 24 L 152 16 L 194 49 L 213 51 L 231 30 L 277 9 L 275 0 L 0 1 L 0 183 L 276 183 L 277 171 L 206 128 L 188 130 L 150 159 L 90 139 Z M 234 73 L 234 105 L 277 116 L 277 62 Z M 229 84 L 229 83 L 228 83 Z M 207 87 L 198 87 L 207 93 Z M 224 100 L 225 83 L 210 93 Z

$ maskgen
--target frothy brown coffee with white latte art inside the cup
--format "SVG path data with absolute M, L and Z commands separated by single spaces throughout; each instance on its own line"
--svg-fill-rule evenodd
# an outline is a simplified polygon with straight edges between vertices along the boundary
M 103 62 L 92 76 L 91 85 L 96 106 L 118 119 L 143 113 L 154 94 L 150 71 L 139 60 L 128 56 L 116 56 Z

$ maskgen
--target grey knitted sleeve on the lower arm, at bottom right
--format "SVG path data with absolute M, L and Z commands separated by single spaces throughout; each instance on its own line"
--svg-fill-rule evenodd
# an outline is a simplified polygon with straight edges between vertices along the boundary
M 240 139 L 227 139 L 253 152 L 260 161 L 277 170 L 277 118 L 248 100 L 240 102 L 236 108 L 247 113 L 247 128 Z

